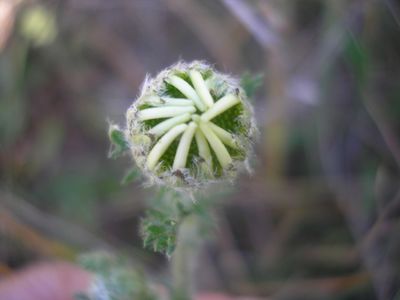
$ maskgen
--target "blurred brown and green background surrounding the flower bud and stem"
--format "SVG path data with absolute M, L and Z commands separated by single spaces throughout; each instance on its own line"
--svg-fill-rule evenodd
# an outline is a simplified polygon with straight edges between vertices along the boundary
M 254 172 L 218 202 L 198 289 L 400 299 L 395 0 L 0 0 L 0 278 L 93 249 L 168 277 L 107 128 L 179 59 L 263 76 Z

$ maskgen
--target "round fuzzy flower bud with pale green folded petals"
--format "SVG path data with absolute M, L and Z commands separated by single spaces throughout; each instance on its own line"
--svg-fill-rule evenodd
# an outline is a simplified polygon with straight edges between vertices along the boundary
M 148 78 L 126 117 L 137 165 L 152 183 L 173 188 L 234 179 L 256 132 L 238 81 L 199 61 Z

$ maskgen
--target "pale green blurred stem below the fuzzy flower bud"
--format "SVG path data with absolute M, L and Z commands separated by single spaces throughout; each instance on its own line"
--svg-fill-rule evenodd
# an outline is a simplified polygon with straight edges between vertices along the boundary
M 177 245 L 171 259 L 174 282 L 172 300 L 192 299 L 193 273 L 200 240 L 198 222 L 198 217 L 190 214 L 183 219 L 178 229 Z

